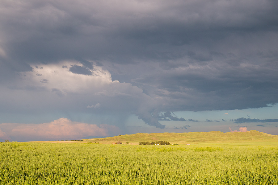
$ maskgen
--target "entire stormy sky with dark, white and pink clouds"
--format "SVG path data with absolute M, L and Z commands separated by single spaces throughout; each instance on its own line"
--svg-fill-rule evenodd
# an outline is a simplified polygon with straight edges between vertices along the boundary
M 278 135 L 276 0 L 0 0 L 0 141 Z

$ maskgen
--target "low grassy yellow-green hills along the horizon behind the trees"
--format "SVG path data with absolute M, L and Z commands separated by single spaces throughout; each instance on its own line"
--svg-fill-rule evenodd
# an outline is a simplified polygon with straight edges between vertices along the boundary
M 131 142 L 164 140 L 170 143 L 198 143 L 198 142 L 278 142 L 278 135 L 266 134 L 256 130 L 247 132 L 188 132 L 188 133 L 152 133 L 126 134 L 108 138 L 90 139 L 96 142 Z

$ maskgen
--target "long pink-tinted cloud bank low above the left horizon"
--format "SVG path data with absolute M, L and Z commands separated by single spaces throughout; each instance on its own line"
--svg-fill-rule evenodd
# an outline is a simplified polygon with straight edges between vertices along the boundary
M 27 140 L 32 140 L 33 138 L 39 140 L 58 140 L 78 139 L 89 136 L 109 136 L 111 132 L 119 131 L 119 128 L 113 125 L 98 126 L 95 124 L 71 121 L 63 117 L 50 123 L 42 124 L 2 123 L 0 124 L 0 128 L 5 131 L 2 131 L 6 134 L 4 136 L 25 138 Z

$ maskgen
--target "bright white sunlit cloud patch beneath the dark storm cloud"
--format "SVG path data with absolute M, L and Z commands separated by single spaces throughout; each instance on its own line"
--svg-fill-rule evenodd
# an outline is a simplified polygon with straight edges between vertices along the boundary
M 70 72 L 68 67 L 71 65 L 82 66 L 77 61 L 33 65 L 33 71 L 22 72 L 21 79 L 36 86 L 59 90 L 61 93 L 82 93 L 88 89 L 97 92 L 103 85 L 113 83 L 111 74 L 99 66 L 88 69 L 92 72 L 92 75 L 88 76 Z

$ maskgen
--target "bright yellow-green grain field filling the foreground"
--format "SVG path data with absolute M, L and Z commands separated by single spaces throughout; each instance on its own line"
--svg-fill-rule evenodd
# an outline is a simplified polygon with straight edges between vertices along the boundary
M 278 184 L 278 146 L 0 143 L 0 184 Z

